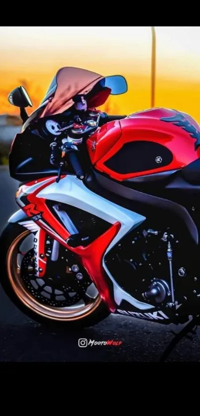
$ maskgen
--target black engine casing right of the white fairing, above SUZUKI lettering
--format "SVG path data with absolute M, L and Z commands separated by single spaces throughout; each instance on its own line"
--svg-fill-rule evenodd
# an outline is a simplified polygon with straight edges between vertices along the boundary
M 195 304 L 200 296 L 200 277 L 194 275 L 191 257 L 170 228 L 131 232 L 105 262 L 126 292 L 149 305 L 176 309 L 187 301 Z

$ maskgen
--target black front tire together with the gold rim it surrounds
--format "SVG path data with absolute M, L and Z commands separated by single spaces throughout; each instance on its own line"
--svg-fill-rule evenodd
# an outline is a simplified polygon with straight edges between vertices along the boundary
M 95 303 L 93 309 L 91 311 L 87 311 L 87 313 L 83 313 L 82 316 L 78 316 L 75 318 L 68 318 L 68 317 L 60 317 L 56 316 L 56 308 L 50 307 L 48 311 L 48 317 L 42 310 L 38 311 L 35 307 L 33 307 L 33 302 L 37 303 L 35 299 L 32 297 L 30 293 L 28 293 L 27 297 L 22 296 L 22 292 L 25 293 L 23 289 L 20 294 L 18 294 L 18 290 L 15 287 L 13 275 L 11 274 L 11 266 L 13 268 L 13 261 L 11 259 L 10 252 L 13 250 L 13 244 L 15 241 L 22 239 L 25 234 L 28 235 L 29 231 L 25 230 L 24 227 L 17 223 L 8 223 L 8 225 L 4 228 L 1 236 L 0 236 L 0 283 L 2 285 L 3 290 L 12 301 L 12 303 L 26 316 L 33 319 L 34 321 L 39 322 L 40 324 L 51 326 L 51 327 L 63 327 L 67 329 L 75 329 L 75 328 L 84 328 L 90 327 L 93 325 L 98 324 L 105 318 L 110 315 L 108 308 L 106 307 L 105 303 L 100 299 L 98 295 L 98 300 Z M 20 277 L 19 277 L 20 278 Z M 22 286 L 23 281 L 21 279 Z M 24 286 L 25 287 L 25 286 Z M 20 291 L 20 289 L 19 289 Z M 30 299 L 30 303 L 29 303 Z M 53 311 L 54 309 L 54 311 Z M 51 310 L 54 312 L 51 316 Z

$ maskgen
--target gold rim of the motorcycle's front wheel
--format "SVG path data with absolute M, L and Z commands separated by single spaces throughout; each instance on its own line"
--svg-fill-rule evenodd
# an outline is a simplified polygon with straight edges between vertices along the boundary
M 92 299 L 91 303 L 84 306 L 70 306 L 67 308 L 54 308 L 50 305 L 44 305 L 36 298 L 31 296 L 23 284 L 20 277 L 20 268 L 17 263 L 18 246 L 22 240 L 30 234 L 30 231 L 24 231 L 19 234 L 10 245 L 6 256 L 6 269 L 9 282 L 16 296 L 20 301 L 37 315 L 54 321 L 77 321 L 91 315 L 101 303 L 101 297 L 98 294 L 96 299 Z M 91 281 L 92 283 L 92 281 Z

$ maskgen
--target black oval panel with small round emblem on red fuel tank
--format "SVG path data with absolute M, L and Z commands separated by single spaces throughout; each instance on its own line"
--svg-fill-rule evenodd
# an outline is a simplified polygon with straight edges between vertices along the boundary
M 137 140 L 125 143 L 104 165 L 114 172 L 128 174 L 161 168 L 172 160 L 173 154 L 162 144 Z

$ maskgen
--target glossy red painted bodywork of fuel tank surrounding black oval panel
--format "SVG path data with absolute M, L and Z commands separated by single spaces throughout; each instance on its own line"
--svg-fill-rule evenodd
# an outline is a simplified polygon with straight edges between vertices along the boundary
M 92 164 L 100 172 L 104 172 L 111 178 L 118 181 L 164 172 L 167 170 L 176 170 L 187 166 L 189 163 L 200 157 L 200 148 L 198 148 L 197 151 L 195 150 L 195 139 L 191 137 L 190 133 L 185 131 L 180 126 L 173 124 L 172 122 L 165 122 L 161 120 L 161 118 L 170 118 L 177 114 L 179 115 L 180 113 L 175 110 L 162 108 L 146 110 L 140 113 L 132 114 L 129 118 L 120 120 L 119 124 L 121 131 L 120 128 L 118 128 L 118 134 L 116 131 L 117 125 L 115 128 L 113 125 L 110 126 L 109 133 L 109 130 L 103 131 L 100 129 L 96 135 L 93 135 L 90 141 L 87 141 Z M 195 120 L 193 120 L 190 116 L 185 116 L 186 120 L 188 120 L 188 122 L 191 123 L 191 125 L 193 125 L 199 132 L 200 126 L 198 123 L 195 122 Z M 113 135 L 112 132 L 114 133 Z M 93 152 L 91 151 L 91 140 L 96 141 L 96 148 Z M 114 156 L 120 149 L 122 149 L 125 143 L 139 140 L 153 141 L 164 145 L 172 152 L 173 158 L 171 163 L 167 166 L 159 167 L 158 165 L 155 169 L 130 172 L 128 174 L 114 172 L 105 166 L 104 163 Z

